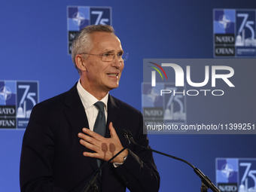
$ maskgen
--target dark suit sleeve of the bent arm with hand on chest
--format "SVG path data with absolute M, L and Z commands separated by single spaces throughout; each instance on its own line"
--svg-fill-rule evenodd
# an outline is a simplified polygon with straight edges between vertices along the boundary
M 143 117 L 141 114 L 137 130 L 133 131 L 133 137 L 139 145 L 148 146 L 148 137 L 143 134 Z M 132 147 L 123 165 L 118 166 L 115 171 L 132 192 L 156 192 L 160 187 L 160 175 L 155 166 L 151 151 Z

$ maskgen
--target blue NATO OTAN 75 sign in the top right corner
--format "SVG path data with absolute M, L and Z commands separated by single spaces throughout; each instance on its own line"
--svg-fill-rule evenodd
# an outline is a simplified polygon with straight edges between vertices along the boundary
M 214 56 L 256 56 L 256 11 L 215 9 Z

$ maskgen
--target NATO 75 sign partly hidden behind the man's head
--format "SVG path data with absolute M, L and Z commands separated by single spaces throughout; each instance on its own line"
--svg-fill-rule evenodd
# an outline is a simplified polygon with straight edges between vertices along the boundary
M 89 25 L 111 26 L 111 8 L 109 7 L 84 7 L 68 6 L 68 53 L 71 54 L 72 41 L 75 35 Z

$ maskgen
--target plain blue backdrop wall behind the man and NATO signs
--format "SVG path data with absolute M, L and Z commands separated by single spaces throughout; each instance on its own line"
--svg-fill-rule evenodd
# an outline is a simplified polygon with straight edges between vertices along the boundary
M 112 26 L 129 53 L 120 87 L 111 95 L 142 111 L 143 59 L 214 58 L 213 9 L 256 9 L 254 0 L 225 1 L 3 1 L 0 6 L 0 81 L 38 81 L 39 101 L 69 90 L 78 81 L 68 54 L 67 7 L 111 7 Z M 254 31 L 256 31 L 254 29 Z M 256 63 L 255 63 L 256 64 Z M 245 122 L 255 117 L 255 87 L 248 77 L 256 66 L 235 71 L 244 77 L 243 94 L 232 105 Z M 242 78 L 239 78 L 242 79 Z M 237 83 L 238 84 L 238 83 Z M 235 91 L 234 91 L 235 92 Z M 210 99 L 209 101 L 210 102 Z M 219 110 L 225 103 L 216 101 Z M 209 105 L 187 105 L 187 123 L 218 122 Z M 243 107 L 245 108 L 245 107 Z M 206 109 L 208 110 L 205 114 Z M 232 115 L 232 110 L 226 111 Z M 215 116 L 216 115 L 216 116 Z M 249 116 L 249 117 L 248 117 Z M 236 123 L 236 122 L 229 122 Z M 0 191 L 19 191 L 20 150 L 25 130 L 0 130 Z M 190 161 L 215 182 L 216 157 L 256 157 L 255 135 L 149 135 L 151 148 Z M 160 191 L 200 191 L 201 181 L 184 163 L 154 154 L 161 176 Z

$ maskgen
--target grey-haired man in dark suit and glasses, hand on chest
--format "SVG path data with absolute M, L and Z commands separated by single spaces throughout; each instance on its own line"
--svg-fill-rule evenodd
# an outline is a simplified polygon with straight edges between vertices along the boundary
M 142 114 L 108 94 L 118 87 L 126 56 L 111 26 L 87 26 L 78 32 L 72 44 L 78 83 L 32 110 L 20 160 L 22 192 L 81 192 L 100 163 L 127 145 L 122 129 L 149 148 Z M 106 123 L 102 136 L 95 128 L 100 110 L 94 104 L 99 101 Z M 102 192 L 126 187 L 158 191 L 160 176 L 151 151 L 131 144 L 102 169 L 96 186 Z

